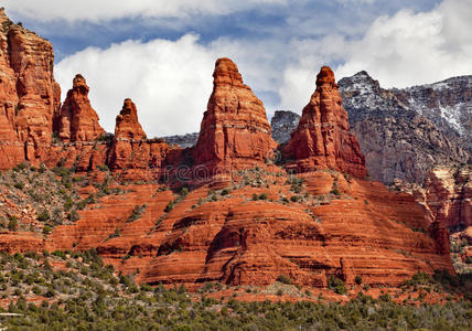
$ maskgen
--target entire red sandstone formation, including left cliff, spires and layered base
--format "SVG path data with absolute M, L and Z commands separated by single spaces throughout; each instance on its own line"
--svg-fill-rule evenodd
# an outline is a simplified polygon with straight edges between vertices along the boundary
M 14 154 L 17 147 L 26 150 L 19 159 L 51 166 L 62 160 L 67 168 L 74 164 L 79 171 L 90 170 L 92 181 L 100 178 L 93 170 L 101 164 L 132 180 L 159 179 L 164 166 L 179 166 L 175 162 L 184 158 L 183 152 L 147 139 L 130 99 L 117 117 L 114 141 L 95 141 L 100 131 L 98 118 L 87 103 L 81 77 L 57 114 L 51 45 L 4 22 L 0 135 L 12 143 L 2 145 L 2 167 L 17 162 L 10 154 L 3 156 L 6 151 Z M 75 113 L 84 116 L 75 121 Z M 61 135 L 67 143 L 53 145 L 45 152 L 51 147 L 54 115 L 63 119 Z M 266 285 L 283 274 L 296 284 L 315 287 L 325 286 L 330 276 L 347 284 L 362 276 L 365 284 L 397 285 L 419 270 L 453 271 L 446 228 L 435 224 L 432 235 L 419 232 L 430 224 L 411 195 L 341 174 L 366 174 L 364 158 L 348 129 L 334 75 L 323 67 L 317 90 L 283 150 L 291 159 L 288 168 L 303 172 L 299 193 L 287 181 L 286 170 L 276 166 L 242 171 L 227 183 L 225 193 L 213 192 L 215 188 L 206 184 L 178 199 L 154 183 L 124 186 L 124 194 L 97 199 L 78 212 L 78 221 L 56 226 L 51 235 L 0 234 L 0 249 L 95 247 L 119 270 L 139 268 L 138 280 L 154 284 L 218 280 Z M 273 147 L 262 103 L 243 84 L 230 60 L 218 60 L 199 142 L 190 151 L 194 166 L 242 169 L 264 164 Z M 143 205 L 142 214 L 131 217 L 136 206 Z M 119 235 L 114 236 L 117 229 Z

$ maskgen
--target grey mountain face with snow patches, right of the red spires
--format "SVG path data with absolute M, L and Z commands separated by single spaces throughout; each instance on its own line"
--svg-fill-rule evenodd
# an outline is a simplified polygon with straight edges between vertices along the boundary
M 422 185 L 435 166 L 468 161 L 468 135 L 461 137 L 448 125 L 458 121 L 458 128 L 466 132 L 466 120 L 459 118 L 466 118 L 470 88 L 468 84 L 453 84 L 455 81 L 472 82 L 472 77 L 406 89 L 382 88 L 366 72 L 339 82 L 352 131 L 374 180 Z

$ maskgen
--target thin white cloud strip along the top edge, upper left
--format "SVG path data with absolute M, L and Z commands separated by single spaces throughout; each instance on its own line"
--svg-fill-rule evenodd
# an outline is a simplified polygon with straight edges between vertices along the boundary
M 184 18 L 194 14 L 228 14 L 286 0 L 3 0 L 10 12 L 39 21 L 93 21 L 131 17 Z

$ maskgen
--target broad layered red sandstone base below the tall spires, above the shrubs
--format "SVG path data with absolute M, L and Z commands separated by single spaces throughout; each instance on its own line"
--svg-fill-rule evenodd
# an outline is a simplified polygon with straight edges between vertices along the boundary
M 378 182 L 346 181 L 337 172 L 301 175 L 313 194 L 336 183 L 343 195 L 283 204 L 279 194 L 291 191 L 282 178 L 269 189 L 242 186 L 217 201 L 207 200 L 210 186 L 204 185 L 169 211 L 168 202 L 175 200 L 171 191 L 133 185 L 125 195 L 81 211 L 81 220 L 58 226 L 46 246 L 97 247 L 117 269 L 139 268 L 138 281 L 190 287 L 203 281 L 268 285 L 279 275 L 312 287 L 325 287 L 331 276 L 347 285 L 361 276 L 364 284 L 396 286 L 418 270 L 453 273 L 447 229 L 429 227 L 411 195 L 388 192 Z M 251 201 L 262 192 L 268 200 Z M 140 218 L 127 221 L 143 204 Z M 418 232 L 421 227 L 426 231 Z M 110 239 L 116 228 L 120 236 Z

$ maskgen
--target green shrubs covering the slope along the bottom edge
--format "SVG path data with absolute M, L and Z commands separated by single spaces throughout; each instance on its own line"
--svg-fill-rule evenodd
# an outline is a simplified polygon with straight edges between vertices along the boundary
M 61 261 L 66 269 L 52 267 Z M 336 279 L 331 285 L 344 286 Z M 451 286 L 453 279 L 437 271 L 433 277 L 415 275 L 410 282 Z M 0 254 L 0 287 L 10 302 L 0 312 L 21 314 L 0 317 L 8 330 L 469 330 L 472 319 L 468 300 L 409 306 L 395 303 L 388 293 L 373 299 L 360 292 L 344 303 L 321 297 L 314 302 L 242 302 L 236 296 L 208 297 L 225 289 L 221 282 L 206 282 L 197 293 L 179 285 L 138 286 L 132 275 L 104 265 L 94 249 Z M 275 293 L 281 297 L 287 289 Z M 40 300 L 35 305 L 31 298 Z

